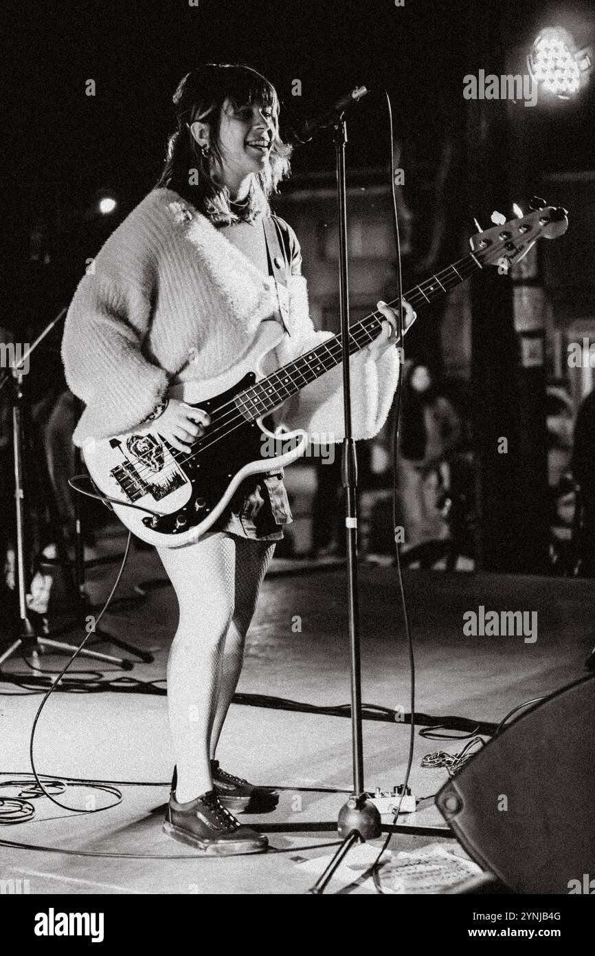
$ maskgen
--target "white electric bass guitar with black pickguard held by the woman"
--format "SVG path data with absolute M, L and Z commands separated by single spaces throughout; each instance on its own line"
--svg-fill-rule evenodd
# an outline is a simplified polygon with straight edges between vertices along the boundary
M 479 232 L 471 251 L 404 297 L 420 309 L 487 265 L 508 268 L 538 238 L 565 232 L 563 208 L 542 206 L 519 219 Z M 380 332 L 383 315 L 372 313 L 350 328 L 350 355 Z M 158 547 L 180 547 L 198 540 L 213 527 L 245 478 L 285 467 L 304 454 L 308 434 L 297 430 L 273 434 L 263 418 L 281 407 L 311 381 L 343 359 L 341 335 L 268 375 L 259 373 L 260 359 L 272 348 L 276 322 L 263 322 L 254 346 L 230 372 L 214 380 L 186 382 L 170 395 L 202 408 L 210 416 L 204 434 L 187 452 L 168 445 L 153 427 L 88 443 L 85 464 L 103 500 L 130 531 Z M 409 326 L 411 328 L 411 325 Z M 272 331 L 271 331 L 272 330 Z M 255 369 L 257 371 L 255 371 Z M 273 447 L 275 453 L 263 453 Z

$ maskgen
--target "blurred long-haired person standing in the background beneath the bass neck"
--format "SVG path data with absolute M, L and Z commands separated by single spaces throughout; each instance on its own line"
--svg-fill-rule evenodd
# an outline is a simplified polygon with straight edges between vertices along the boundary
M 448 456 L 460 438 L 461 422 L 455 408 L 438 394 L 428 366 L 414 361 L 403 380 L 398 455 L 407 547 L 448 536 L 436 499 L 439 489 L 449 484 Z

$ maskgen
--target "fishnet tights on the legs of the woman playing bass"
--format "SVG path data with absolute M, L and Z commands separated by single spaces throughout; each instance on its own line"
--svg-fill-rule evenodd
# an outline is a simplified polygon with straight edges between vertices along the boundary
M 217 532 L 159 548 L 180 607 L 167 705 L 182 803 L 212 790 L 210 760 L 244 661 L 245 635 L 275 543 Z

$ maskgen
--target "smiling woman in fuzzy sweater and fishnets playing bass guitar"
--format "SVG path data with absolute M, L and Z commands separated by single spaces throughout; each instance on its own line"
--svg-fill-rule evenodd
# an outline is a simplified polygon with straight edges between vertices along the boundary
M 83 448 L 150 420 L 187 451 L 209 426 L 205 412 L 181 401 L 193 381 L 232 368 L 268 322 L 278 323 L 270 371 L 330 337 L 309 318 L 295 233 L 268 206 L 290 152 L 274 88 L 247 67 L 209 64 L 182 78 L 174 104 L 178 125 L 157 186 L 99 251 L 67 316 L 63 359 L 86 403 L 74 432 Z M 382 332 L 351 358 L 356 439 L 382 426 L 398 377 L 395 315 L 379 308 Z M 340 366 L 286 402 L 276 421 L 341 441 Z M 199 541 L 158 548 L 180 605 L 167 667 L 177 772 L 164 829 L 207 854 L 266 850 L 266 837 L 230 812 L 256 809 L 263 789 L 223 771 L 215 753 L 259 588 L 290 519 L 283 472 L 273 468 L 244 484 Z

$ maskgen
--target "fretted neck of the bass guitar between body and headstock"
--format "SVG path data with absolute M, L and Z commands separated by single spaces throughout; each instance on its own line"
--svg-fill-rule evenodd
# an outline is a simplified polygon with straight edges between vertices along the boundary
M 481 269 L 481 263 L 471 252 L 459 259 L 458 262 L 437 272 L 430 279 L 414 286 L 404 293 L 414 309 L 428 302 L 433 302 L 442 295 L 451 292 L 457 285 L 469 278 L 473 272 Z M 396 300 L 395 300 L 396 301 Z M 394 305 L 394 302 L 389 303 Z M 359 352 L 377 337 L 384 315 L 373 312 L 355 322 L 350 327 L 349 351 L 350 355 Z M 411 326 L 410 326 L 411 328 Z M 407 329 L 404 330 L 407 332 Z M 330 369 L 339 365 L 343 360 L 343 336 L 341 333 L 328 338 L 321 345 L 317 345 L 311 352 L 305 353 L 299 359 L 294 359 L 287 365 L 273 372 L 272 375 L 246 388 L 235 398 L 235 404 L 246 419 L 256 419 L 266 415 L 275 408 L 279 408 L 292 395 L 297 395 L 311 381 L 319 379 Z

